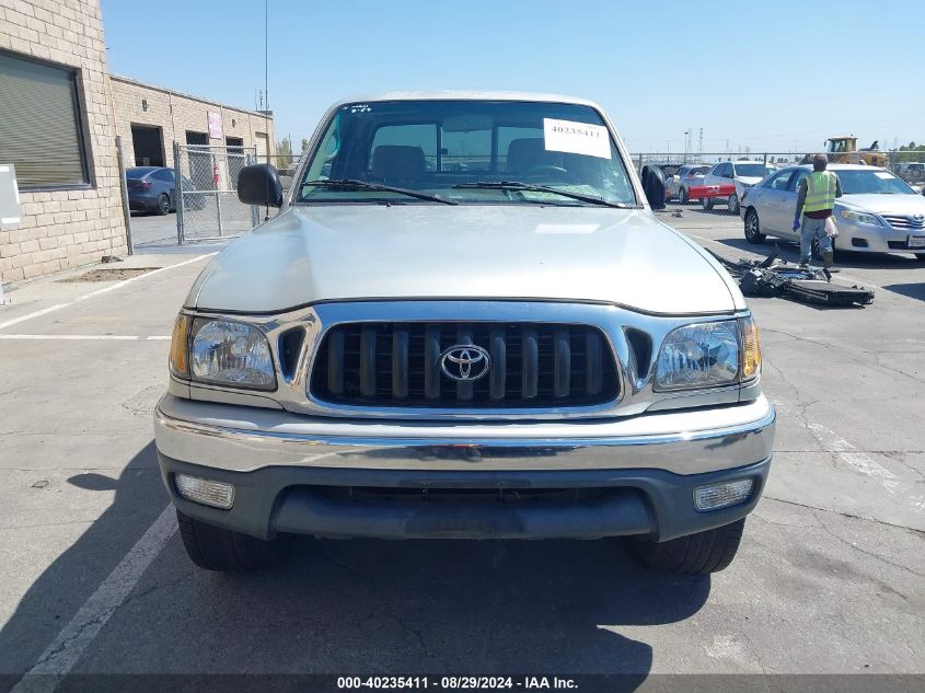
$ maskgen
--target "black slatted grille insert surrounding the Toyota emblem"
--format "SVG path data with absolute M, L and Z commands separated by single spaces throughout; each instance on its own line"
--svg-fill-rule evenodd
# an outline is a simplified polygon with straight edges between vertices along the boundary
M 456 381 L 444 351 L 474 345 L 490 368 Z M 620 394 L 612 348 L 597 327 L 510 322 L 361 322 L 331 327 L 315 356 L 311 394 L 321 402 L 381 407 L 579 407 Z

